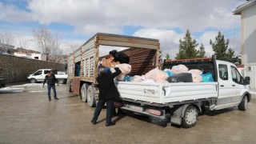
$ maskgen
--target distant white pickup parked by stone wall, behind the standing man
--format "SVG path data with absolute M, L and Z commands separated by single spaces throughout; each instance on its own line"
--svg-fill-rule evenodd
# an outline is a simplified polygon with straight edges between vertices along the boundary
M 27 76 L 27 80 L 31 83 L 35 82 L 43 82 L 46 77 L 46 74 L 50 71 L 50 69 L 40 69 L 35 71 L 33 74 Z M 57 71 L 55 77 L 58 79 L 58 83 L 62 84 L 66 82 L 67 74 L 66 72 Z

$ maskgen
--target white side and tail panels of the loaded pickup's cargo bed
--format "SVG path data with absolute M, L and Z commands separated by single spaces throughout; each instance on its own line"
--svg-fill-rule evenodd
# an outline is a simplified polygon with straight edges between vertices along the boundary
M 121 98 L 160 104 L 218 97 L 218 82 L 117 82 L 116 86 Z

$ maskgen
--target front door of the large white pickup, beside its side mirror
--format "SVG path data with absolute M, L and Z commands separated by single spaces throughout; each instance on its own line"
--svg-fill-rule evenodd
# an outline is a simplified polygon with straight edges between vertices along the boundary
M 234 95 L 231 97 L 231 102 L 240 102 L 242 99 L 242 91 L 245 89 L 244 79 L 235 66 L 230 66 L 230 71 L 234 90 Z

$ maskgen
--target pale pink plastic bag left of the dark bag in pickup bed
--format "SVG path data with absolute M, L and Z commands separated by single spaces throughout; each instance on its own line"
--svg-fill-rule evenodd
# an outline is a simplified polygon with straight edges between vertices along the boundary
M 162 70 L 158 70 L 158 68 L 155 68 L 146 73 L 145 78 L 154 79 L 154 82 L 165 82 L 168 78 L 168 74 Z

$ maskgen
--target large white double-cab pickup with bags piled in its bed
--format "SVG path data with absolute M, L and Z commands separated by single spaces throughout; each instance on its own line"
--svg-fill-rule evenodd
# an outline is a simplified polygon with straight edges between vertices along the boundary
M 242 78 L 233 63 L 198 58 L 164 62 L 163 69 L 178 64 L 204 73 L 210 72 L 214 82 L 117 82 L 124 102 L 122 109 L 158 118 L 166 118 L 166 114 L 169 114 L 171 123 L 184 128 L 196 124 L 202 109 L 220 110 L 238 106 L 238 110 L 246 110 L 251 97 L 250 78 Z

